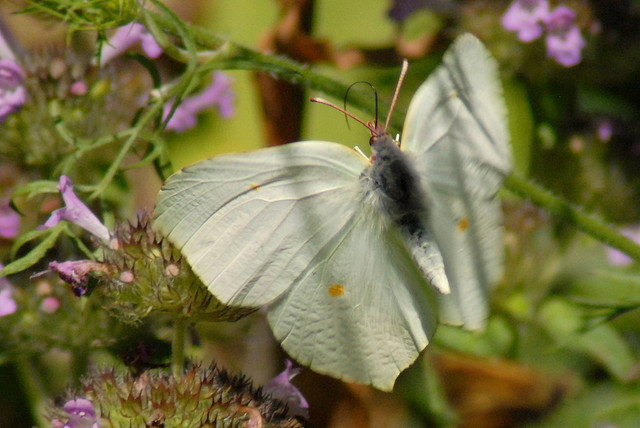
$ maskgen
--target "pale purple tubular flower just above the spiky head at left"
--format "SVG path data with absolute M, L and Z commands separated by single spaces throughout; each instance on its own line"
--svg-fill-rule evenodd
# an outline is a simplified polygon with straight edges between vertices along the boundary
M 107 229 L 107 227 L 98 220 L 98 217 L 73 193 L 73 182 L 69 177 L 66 175 L 60 176 L 58 190 L 62 193 L 65 207 L 52 212 L 51 217 L 38 229 L 48 229 L 58 224 L 60 220 L 67 220 L 88 230 L 104 241 L 110 239 L 109 229 Z

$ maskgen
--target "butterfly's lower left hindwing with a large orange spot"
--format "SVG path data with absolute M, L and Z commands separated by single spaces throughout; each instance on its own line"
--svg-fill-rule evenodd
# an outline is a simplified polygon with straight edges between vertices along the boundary
M 270 306 L 268 319 L 300 363 L 390 391 L 428 344 L 437 303 L 397 230 L 366 211 L 354 213 L 344 234 Z

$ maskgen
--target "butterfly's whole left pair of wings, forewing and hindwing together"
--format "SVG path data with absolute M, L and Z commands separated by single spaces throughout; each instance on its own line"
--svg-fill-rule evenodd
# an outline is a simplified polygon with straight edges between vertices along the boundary
M 218 156 L 171 177 L 156 227 L 219 300 L 270 304 L 283 348 L 320 373 L 391 389 L 435 328 L 400 232 L 369 203 L 368 162 L 305 142 Z

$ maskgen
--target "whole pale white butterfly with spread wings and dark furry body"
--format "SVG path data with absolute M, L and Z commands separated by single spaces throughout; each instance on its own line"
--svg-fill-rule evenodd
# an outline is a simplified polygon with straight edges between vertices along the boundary
M 403 151 L 371 143 L 371 162 L 321 141 L 200 162 L 167 180 L 155 224 L 219 300 L 268 305 L 301 364 L 391 390 L 434 333 L 436 295 L 447 321 L 482 327 L 500 273 L 511 157 L 486 48 L 453 44 L 411 102 Z

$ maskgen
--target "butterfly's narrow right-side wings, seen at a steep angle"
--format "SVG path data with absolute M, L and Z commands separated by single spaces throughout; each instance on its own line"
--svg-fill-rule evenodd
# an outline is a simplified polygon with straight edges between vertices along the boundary
M 431 228 L 449 278 L 442 318 L 481 328 L 490 285 L 503 263 L 502 214 L 495 196 L 512 161 L 497 64 L 474 36 L 458 38 L 418 89 L 402 147 L 417 155 L 431 202 Z

